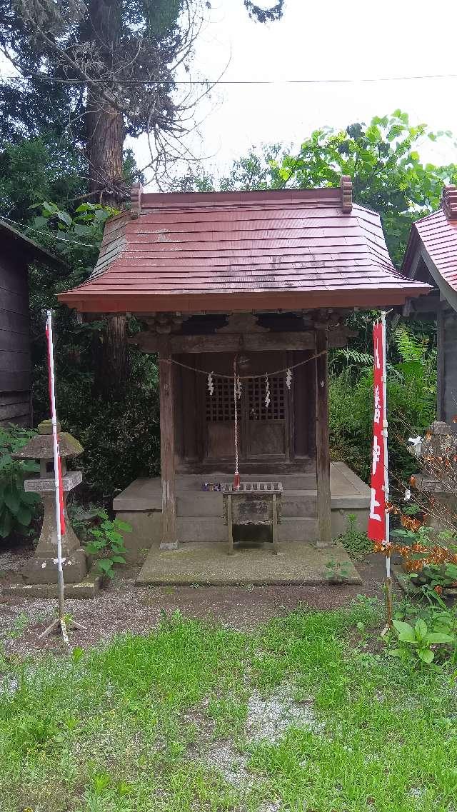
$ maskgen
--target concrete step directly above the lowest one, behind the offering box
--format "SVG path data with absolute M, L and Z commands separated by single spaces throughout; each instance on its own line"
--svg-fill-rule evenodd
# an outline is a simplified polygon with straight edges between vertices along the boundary
M 316 516 L 315 490 L 287 490 L 282 494 L 281 512 L 284 517 Z M 178 516 L 222 516 L 222 494 L 205 490 L 179 490 L 176 497 Z

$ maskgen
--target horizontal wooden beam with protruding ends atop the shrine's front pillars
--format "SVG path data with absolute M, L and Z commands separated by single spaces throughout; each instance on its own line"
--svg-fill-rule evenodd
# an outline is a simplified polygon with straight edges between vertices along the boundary
M 337 327 L 329 331 L 330 347 L 345 347 L 350 330 Z M 144 331 L 136 333 L 129 343 L 136 343 L 143 352 L 157 352 L 160 335 Z M 179 352 L 263 352 L 264 350 L 313 350 L 313 330 L 289 333 L 211 333 L 209 335 L 170 335 L 170 351 Z

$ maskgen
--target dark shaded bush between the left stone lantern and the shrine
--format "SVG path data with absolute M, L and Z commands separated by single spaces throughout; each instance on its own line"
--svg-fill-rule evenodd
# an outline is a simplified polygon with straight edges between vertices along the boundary
M 66 324 L 67 315 L 59 311 L 56 318 L 57 410 L 63 430 L 73 434 L 84 448 L 82 456 L 69 460 L 69 467 L 83 472 L 79 498 L 103 502 L 110 508 L 116 491 L 137 477 L 155 476 L 160 470 L 157 364 L 154 356 L 129 347 L 131 374 L 126 393 L 120 400 L 104 400 L 94 394 L 91 347 L 97 329 L 92 326 L 80 332 L 80 347 L 75 343 L 70 352 L 68 336 L 77 330 L 71 322 Z M 37 419 L 49 417 L 43 363 L 34 369 L 33 396 Z

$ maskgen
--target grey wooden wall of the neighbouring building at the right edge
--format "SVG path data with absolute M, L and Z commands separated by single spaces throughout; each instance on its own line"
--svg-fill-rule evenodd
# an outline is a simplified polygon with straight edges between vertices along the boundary
M 438 313 L 438 420 L 451 425 L 457 414 L 457 313 Z

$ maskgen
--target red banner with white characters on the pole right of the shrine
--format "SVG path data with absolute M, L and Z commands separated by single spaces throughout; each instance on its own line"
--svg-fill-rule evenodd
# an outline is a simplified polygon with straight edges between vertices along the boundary
M 381 322 L 373 326 L 373 457 L 371 469 L 371 500 L 369 507 L 368 537 L 373 542 L 386 540 L 386 460 L 382 424 L 386 414 L 383 378 L 386 370 L 384 343 L 386 336 Z

